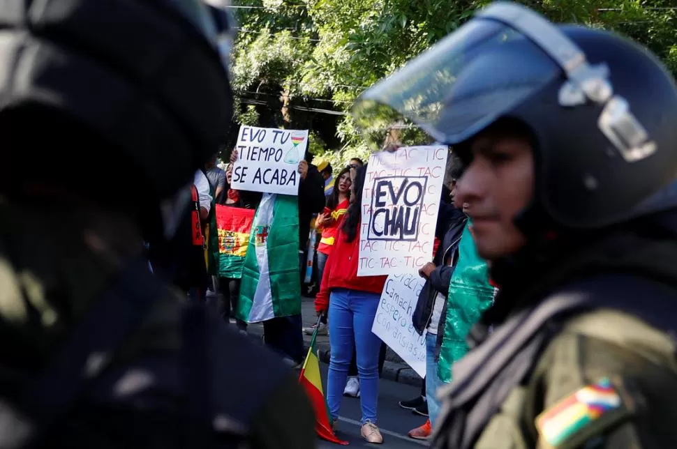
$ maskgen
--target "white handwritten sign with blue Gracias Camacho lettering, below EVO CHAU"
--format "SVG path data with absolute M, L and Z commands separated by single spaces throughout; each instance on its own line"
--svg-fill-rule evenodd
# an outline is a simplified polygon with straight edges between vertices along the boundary
M 418 335 L 411 316 L 424 283 L 418 274 L 388 276 L 371 326 L 421 377 L 426 376 L 426 334 Z

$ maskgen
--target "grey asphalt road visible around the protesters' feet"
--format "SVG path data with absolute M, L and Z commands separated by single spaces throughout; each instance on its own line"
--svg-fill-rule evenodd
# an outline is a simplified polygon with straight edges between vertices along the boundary
M 327 369 L 327 364 L 320 364 L 322 386 L 325 388 L 327 388 Z M 344 441 L 349 441 L 349 448 L 420 449 L 428 446 L 425 441 L 412 440 L 407 436 L 410 429 L 422 425 L 426 418 L 401 409 L 397 405 L 397 402 L 402 399 L 412 399 L 420 393 L 420 388 L 380 380 L 378 384 L 378 427 L 383 435 L 382 445 L 369 444 L 360 436 L 359 432 L 362 426 L 359 423 L 361 416 L 359 398 L 343 397 L 336 436 Z M 340 447 L 342 446 L 323 440 L 318 443 L 318 448 L 321 449 L 337 449 Z

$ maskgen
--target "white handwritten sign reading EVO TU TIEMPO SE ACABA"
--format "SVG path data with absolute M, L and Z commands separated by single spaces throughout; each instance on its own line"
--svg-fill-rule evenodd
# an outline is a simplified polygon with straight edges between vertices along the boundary
M 232 188 L 299 195 L 299 162 L 308 146 L 308 131 L 242 125 L 235 149 Z

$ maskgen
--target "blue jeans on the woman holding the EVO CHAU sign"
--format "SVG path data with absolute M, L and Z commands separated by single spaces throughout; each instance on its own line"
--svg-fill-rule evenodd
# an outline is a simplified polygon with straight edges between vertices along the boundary
M 327 405 L 332 418 L 339 417 L 343 388 L 348 379 L 352 351 L 357 348 L 359 405 L 362 423 L 376 423 L 378 403 L 378 351 L 381 340 L 371 332 L 379 294 L 336 289 L 329 296 L 329 344 L 332 357 L 327 376 Z

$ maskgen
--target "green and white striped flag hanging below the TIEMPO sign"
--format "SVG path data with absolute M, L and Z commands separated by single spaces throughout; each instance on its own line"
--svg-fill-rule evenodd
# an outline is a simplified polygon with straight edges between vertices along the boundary
M 264 193 L 251 228 L 236 315 L 258 323 L 300 313 L 297 197 Z

